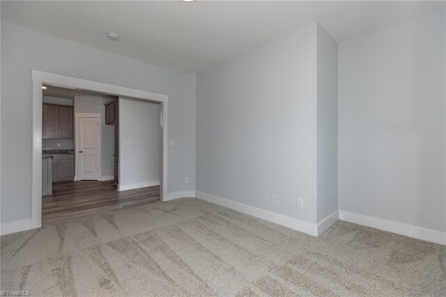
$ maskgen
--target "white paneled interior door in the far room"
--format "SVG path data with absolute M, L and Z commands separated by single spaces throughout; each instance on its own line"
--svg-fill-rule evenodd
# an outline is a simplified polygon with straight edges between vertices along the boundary
M 97 180 L 100 176 L 100 117 L 77 118 L 77 180 Z

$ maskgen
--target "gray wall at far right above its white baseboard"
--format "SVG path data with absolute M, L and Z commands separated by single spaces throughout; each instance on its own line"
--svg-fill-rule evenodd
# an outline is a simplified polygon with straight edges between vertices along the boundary
M 445 17 L 339 45 L 339 208 L 446 231 Z

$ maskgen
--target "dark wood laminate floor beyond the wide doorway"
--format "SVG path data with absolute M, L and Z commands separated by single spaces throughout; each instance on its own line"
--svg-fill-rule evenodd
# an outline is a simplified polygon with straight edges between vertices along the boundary
M 114 181 L 53 183 L 53 195 L 42 198 L 42 222 L 116 211 L 160 200 L 160 186 L 117 191 Z

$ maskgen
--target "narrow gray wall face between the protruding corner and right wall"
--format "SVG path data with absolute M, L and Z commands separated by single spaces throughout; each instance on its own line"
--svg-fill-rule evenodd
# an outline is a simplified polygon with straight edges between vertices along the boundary
M 318 24 L 317 35 L 317 221 L 337 206 L 337 43 Z

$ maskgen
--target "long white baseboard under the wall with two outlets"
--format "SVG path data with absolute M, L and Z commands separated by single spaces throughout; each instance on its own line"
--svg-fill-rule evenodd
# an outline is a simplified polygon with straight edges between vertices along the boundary
M 312 224 L 295 218 L 290 218 L 286 215 L 279 215 L 279 213 L 273 213 L 272 211 L 266 211 L 261 208 L 241 204 L 236 201 L 209 195 L 199 191 L 196 191 L 196 197 L 205 201 L 209 201 L 213 204 L 225 206 L 227 208 L 233 209 L 234 211 L 240 211 L 240 213 L 246 213 L 247 215 L 252 215 L 253 217 L 266 220 L 268 222 L 273 222 L 275 224 L 279 224 L 281 226 L 288 227 L 290 229 L 300 231 L 312 236 L 317 236 L 318 234 L 318 227 L 316 224 Z

